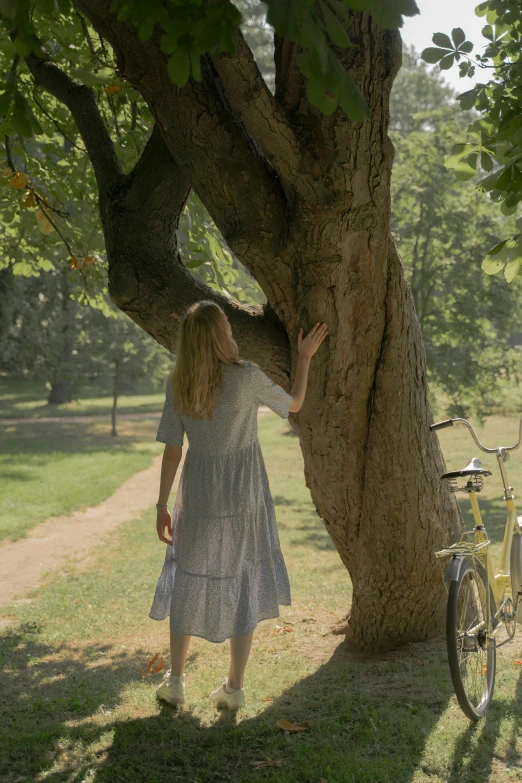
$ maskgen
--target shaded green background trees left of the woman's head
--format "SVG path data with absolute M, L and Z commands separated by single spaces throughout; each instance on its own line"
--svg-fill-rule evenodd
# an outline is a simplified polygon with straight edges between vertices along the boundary
M 73 273 L 41 272 L 38 277 L 4 270 L 0 282 L 9 308 L 0 333 L 0 370 L 35 378 L 50 387 L 48 402 L 82 396 L 87 384 L 113 394 L 113 434 L 120 394 L 149 379 L 158 387 L 171 365 L 168 352 L 114 306 L 107 312 L 70 296 Z

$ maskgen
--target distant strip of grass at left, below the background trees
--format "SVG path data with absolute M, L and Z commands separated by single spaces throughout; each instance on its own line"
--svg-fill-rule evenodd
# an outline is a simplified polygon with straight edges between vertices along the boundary
M 93 416 L 112 410 L 110 390 L 84 386 L 80 399 L 64 405 L 48 405 L 49 390 L 45 383 L 0 376 L 0 419 L 38 419 L 49 416 Z M 118 412 L 157 413 L 163 408 L 165 393 L 142 385 L 132 394 L 118 397 Z

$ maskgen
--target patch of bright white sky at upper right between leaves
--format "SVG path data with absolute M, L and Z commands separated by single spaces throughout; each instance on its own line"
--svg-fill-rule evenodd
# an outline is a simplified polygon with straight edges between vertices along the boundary
M 475 16 L 475 7 L 479 2 L 480 0 L 417 0 L 420 14 L 404 18 L 402 39 L 410 46 L 413 44 L 420 53 L 426 47 L 434 45 L 431 41 L 433 33 L 447 33 L 451 37 L 454 27 L 462 27 L 468 40 L 475 44 L 473 52 L 482 51 L 486 41 L 480 31 L 486 20 L 484 17 Z M 436 68 L 438 69 L 438 66 Z M 484 72 L 476 74 L 473 79 L 461 79 L 456 65 L 442 73 L 457 92 L 470 90 L 476 81 L 487 80 L 484 78 Z

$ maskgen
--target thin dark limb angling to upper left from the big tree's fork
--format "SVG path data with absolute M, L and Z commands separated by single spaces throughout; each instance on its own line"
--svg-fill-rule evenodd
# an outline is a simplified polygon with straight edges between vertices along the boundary
M 100 195 L 103 195 L 122 177 L 122 170 L 94 91 L 78 84 L 54 63 L 35 54 L 30 54 L 26 63 L 38 87 L 54 95 L 73 115 L 89 153 Z

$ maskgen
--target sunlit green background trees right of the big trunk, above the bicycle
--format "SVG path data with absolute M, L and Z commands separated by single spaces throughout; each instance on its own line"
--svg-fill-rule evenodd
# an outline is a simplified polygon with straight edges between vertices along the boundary
M 392 231 L 406 268 L 426 348 L 432 392 L 449 413 L 483 417 L 502 384 L 518 375 L 511 334 L 520 331 L 520 282 L 481 274 L 499 233 L 514 220 L 499 214 L 443 165 L 469 117 L 439 75 L 406 53 L 392 91 Z M 414 164 L 412 163 L 414 161 Z M 506 328 L 510 324 L 511 329 Z

